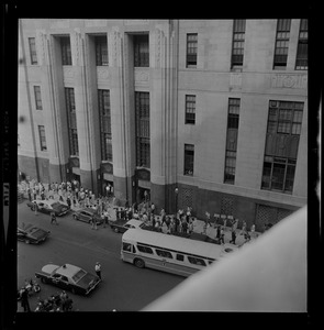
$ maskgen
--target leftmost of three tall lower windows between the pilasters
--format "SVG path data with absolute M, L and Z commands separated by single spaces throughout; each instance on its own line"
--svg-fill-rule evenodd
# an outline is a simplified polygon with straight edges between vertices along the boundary
M 78 130 L 77 130 L 77 112 L 75 103 L 75 90 L 74 88 L 65 88 L 65 101 L 68 119 L 68 131 L 69 131 L 69 146 L 70 154 L 79 155 L 79 144 L 78 144 Z

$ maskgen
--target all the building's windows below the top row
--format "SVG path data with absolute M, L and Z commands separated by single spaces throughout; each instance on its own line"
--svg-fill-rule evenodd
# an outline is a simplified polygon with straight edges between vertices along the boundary
M 34 86 L 36 109 L 42 109 L 40 86 Z M 70 154 L 79 154 L 74 88 L 65 88 Z M 110 91 L 98 90 L 102 161 L 112 162 Z M 224 183 L 235 182 L 241 99 L 228 99 Z M 262 189 L 292 193 L 303 102 L 269 101 Z M 149 92 L 135 91 L 136 166 L 150 167 Z M 186 123 L 194 124 L 195 96 L 186 96 Z M 46 150 L 45 130 L 40 129 L 41 150 Z M 41 136 L 42 132 L 42 136 Z M 278 164 L 278 157 L 286 160 Z M 185 144 L 183 175 L 193 176 L 194 145 Z

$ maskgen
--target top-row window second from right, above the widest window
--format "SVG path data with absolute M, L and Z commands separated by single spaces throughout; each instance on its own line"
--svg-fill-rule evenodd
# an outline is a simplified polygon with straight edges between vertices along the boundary
M 291 20 L 278 20 L 273 68 L 286 68 Z

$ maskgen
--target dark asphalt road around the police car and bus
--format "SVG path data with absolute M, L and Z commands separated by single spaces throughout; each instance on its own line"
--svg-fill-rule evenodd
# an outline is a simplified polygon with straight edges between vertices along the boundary
M 76 221 L 71 215 L 57 218 L 58 226 L 51 224 L 49 216 L 35 216 L 26 202 L 18 206 L 18 222 L 33 223 L 51 230 L 51 237 L 41 245 L 18 242 L 18 287 L 26 278 L 34 278 L 36 271 L 47 263 L 62 265 L 70 263 L 94 274 L 96 262 L 101 263 L 102 283 L 88 297 L 72 295 L 74 309 L 79 311 L 141 310 L 147 304 L 164 295 L 185 277 L 153 270 L 139 270 L 123 263 L 120 258 L 122 234 L 110 228 L 91 230 L 85 222 Z M 40 296 L 45 299 L 59 288 L 43 284 L 42 290 L 30 298 L 32 310 Z M 18 310 L 22 308 L 18 305 Z

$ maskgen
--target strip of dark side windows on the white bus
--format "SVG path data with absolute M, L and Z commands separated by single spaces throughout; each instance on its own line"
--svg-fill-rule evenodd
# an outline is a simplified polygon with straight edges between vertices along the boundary
M 169 260 L 177 260 L 177 261 L 185 261 L 185 257 L 187 257 L 188 262 L 193 265 L 199 265 L 199 266 L 206 266 L 206 261 L 203 260 L 202 257 L 193 256 L 193 255 L 185 255 L 180 252 L 174 252 L 175 257 L 172 253 L 166 249 L 160 249 L 160 248 L 153 248 L 153 246 L 146 246 L 142 245 L 141 243 L 136 244 L 136 248 L 139 252 L 146 253 L 146 254 L 156 254 L 160 257 L 169 258 Z M 123 243 L 123 251 L 126 252 L 133 252 L 135 253 L 136 251 L 134 250 L 135 246 L 130 244 L 130 243 Z M 208 263 L 211 264 L 214 260 L 208 260 Z

